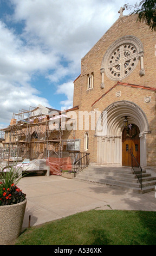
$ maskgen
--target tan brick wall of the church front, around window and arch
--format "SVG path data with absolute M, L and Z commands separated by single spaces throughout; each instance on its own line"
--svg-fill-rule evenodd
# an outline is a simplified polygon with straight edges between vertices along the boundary
M 123 80 L 114 81 L 105 74 L 105 88 L 101 89 L 101 63 L 108 47 L 117 39 L 125 35 L 136 36 L 144 46 L 145 75 L 140 76 L 140 59 L 135 69 Z M 104 111 L 113 102 L 133 102 L 142 109 L 147 118 L 149 131 L 144 135 L 146 143 L 146 167 L 155 167 L 156 159 L 156 119 L 155 119 L 155 90 L 156 90 L 156 57 L 155 32 L 144 23 L 137 22 L 137 15 L 120 17 L 102 36 L 94 47 L 81 60 L 81 75 L 74 81 L 73 106 L 79 106 L 79 111 Z M 94 87 L 87 89 L 88 74 L 94 73 Z M 116 85 L 116 86 L 115 86 Z M 134 86 L 137 85 L 137 86 Z M 152 88 L 152 89 L 151 89 Z M 120 96 L 116 93 L 120 92 Z M 145 102 L 149 97 L 150 102 Z M 77 114 L 78 112 L 77 111 Z M 131 113 L 127 113 L 131 116 Z M 135 123 L 135 117 L 133 116 Z M 137 122 L 138 120 L 136 120 Z M 77 120 L 77 124 L 79 121 Z M 142 128 L 143 129 L 143 128 Z M 142 130 L 143 131 L 143 130 Z M 76 131 L 76 138 L 81 139 L 81 151 L 84 151 L 84 135 L 86 130 Z M 146 132 L 146 131 L 144 131 Z M 98 161 L 98 139 L 95 131 L 88 130 L 90 162 Z M 107 154 L 107 152 L 105 152 Z M 143 160 L 142 160 L 143 161 Z

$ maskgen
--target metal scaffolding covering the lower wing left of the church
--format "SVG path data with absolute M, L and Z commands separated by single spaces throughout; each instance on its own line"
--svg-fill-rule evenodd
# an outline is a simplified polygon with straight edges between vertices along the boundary
M 70 130 L 66 129 L 68 122 L 72 124 Z M 50 117 L 42 113 L 42 108 L 30 106 L 29 110 L 13 113 L 10 125 L 0 130 L 0 138 L 1 160 L 9 161 L 17 155 L 21 160 L 61 159 L 69 154 L 67 143 L 75 143 L 75 120 L 61 112 Z

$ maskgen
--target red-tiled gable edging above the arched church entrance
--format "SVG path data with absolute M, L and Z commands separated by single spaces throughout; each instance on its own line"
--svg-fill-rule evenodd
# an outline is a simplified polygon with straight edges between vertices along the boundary
M 109 92 L 111 92 L 111 90 L 113 90 L 116 86 L 128 86 L 128 87 L 133 87 L 133 88 L 140 88 L 140 89 L 145 89 L 145 90 L 152 90 L 153 92 L 155 92 L 156 88 L 154 87 L 148 87 L 148 86 L 139 86 L 137 84 L 131 84 L 131 83 L 122 83 L 122 82 L 118 82 L 115 84 L 115 86 L 113 86 L 111 89 L 109 89 L 105 94 L 103 94 L 98 100 L 96 100 L 93 104 L 92 107 L 95 105 L 95 103 L 97 103 L 99 100 L 102 99 L 102 97 L 104 97 L 105 95 L 107 95 Z

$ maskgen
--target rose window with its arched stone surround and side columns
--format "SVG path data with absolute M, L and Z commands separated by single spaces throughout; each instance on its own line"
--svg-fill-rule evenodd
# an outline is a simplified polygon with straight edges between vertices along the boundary
M 140 60 L 138 75 L 144 76 L 144 47 L 139 38 L 125 35 L 114 41 L 105 52 L 101 64 L 101 89 L 105 88 L 105 75 L 121 81 L 136 68 Z

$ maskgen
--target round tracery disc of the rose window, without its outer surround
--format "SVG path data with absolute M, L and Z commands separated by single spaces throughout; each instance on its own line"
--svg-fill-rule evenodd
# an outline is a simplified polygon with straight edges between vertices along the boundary
M 137 48 L 133 44 L 122 44 L 110 54 L 107 66 L 108 76 L 115 80 L 124 78 L 132 72 L 137 63 Z

